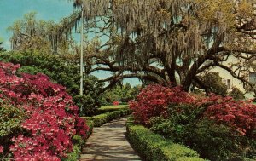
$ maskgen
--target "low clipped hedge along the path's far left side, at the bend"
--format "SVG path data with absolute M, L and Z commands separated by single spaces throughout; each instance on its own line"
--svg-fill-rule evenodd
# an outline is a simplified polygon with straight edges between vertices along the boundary
M 84 117 L 86 120 L 93 121 L 94 127 L 100 127 L 102 124 L 109 121 L 131 114 L 131 110 L 128 108 L 119 109 L 113 112 L 105 112 L 93 117 Z M 82 117 L 83 118 L 83 117 Z

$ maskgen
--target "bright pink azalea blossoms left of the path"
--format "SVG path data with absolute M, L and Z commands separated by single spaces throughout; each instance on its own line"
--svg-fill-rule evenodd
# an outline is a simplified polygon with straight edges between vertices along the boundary
M 73 135 L 85 137 L 89 128 L 64 87 L 43 74 L 18 75 L 19 67 L 0 62 L 0 100 L 26 111 L 21 124 L 26 132 L 13 137 L 10 147 L 0 145 L 0 151 L 9 148 L 15 160 L 61 160 L 72 152 Z

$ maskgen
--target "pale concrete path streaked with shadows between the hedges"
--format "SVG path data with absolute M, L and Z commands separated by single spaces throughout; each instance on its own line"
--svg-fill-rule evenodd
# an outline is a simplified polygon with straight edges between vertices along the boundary
M 140 161 L 125 138 L 125 118 L 113 120 L 99 128 L 86 142 L 80 161 Z

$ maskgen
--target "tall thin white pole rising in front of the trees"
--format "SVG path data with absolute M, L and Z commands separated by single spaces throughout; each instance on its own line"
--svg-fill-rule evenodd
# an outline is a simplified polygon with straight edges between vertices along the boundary
M 84 60 L 83 60 L 83 43 L 84 43 L 84 4 L 82 5 L 81 13 L 81 57 L 80 57 L 80 95 L 83 95 L 83 69 L 84 69 Z

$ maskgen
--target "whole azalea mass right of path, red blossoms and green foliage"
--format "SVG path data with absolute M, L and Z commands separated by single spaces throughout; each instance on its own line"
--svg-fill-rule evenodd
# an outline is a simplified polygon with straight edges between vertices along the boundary
M 249 101 L 149 85 L 130 107 L 137 123 L 194 149 L 202 158 L 256 158 L 256 106 Z

